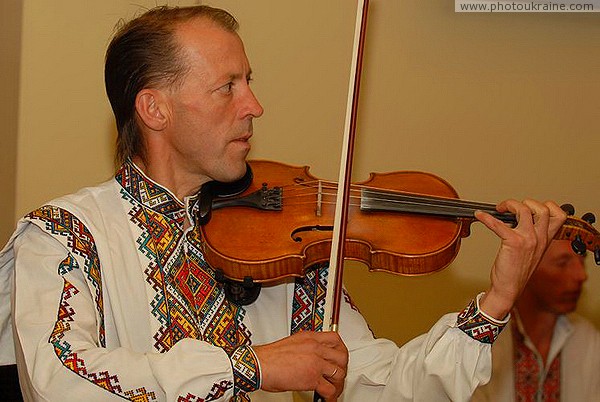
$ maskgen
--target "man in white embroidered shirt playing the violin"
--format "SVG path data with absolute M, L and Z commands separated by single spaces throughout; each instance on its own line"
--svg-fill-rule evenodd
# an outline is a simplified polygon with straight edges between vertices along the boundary
M 402 348 L 348 300 L 339 331 L 319 331 L 326 264 L 236 304 L 196 220 L 203 184 L 244 175 L 263 113 L 236 29 L 219 9 L 164 7 L 115 35 L 105 81 L 121 167 L 19 222 L 0 255 L 3 306 L 14 282 L 0 362 L 17 361 L 26 400 L 468 400 L 564 212 L 507 200 L 514 228 L 477 213 L 501 239 L 489 288 Z

